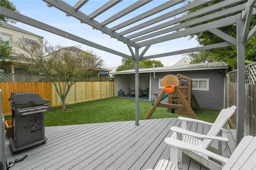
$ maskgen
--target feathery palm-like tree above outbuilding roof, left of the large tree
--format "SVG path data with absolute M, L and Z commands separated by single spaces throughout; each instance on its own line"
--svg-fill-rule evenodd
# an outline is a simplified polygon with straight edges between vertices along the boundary
M 204 50 L 204 51 L 198 51 L 193 53 L 186 53 L 182 56 L 188 56 L 192 61 L 190 61 L 190 64 L 196 64 L 196 63 L 208 63 L 214 61 L 211 58 L 210 51 Z

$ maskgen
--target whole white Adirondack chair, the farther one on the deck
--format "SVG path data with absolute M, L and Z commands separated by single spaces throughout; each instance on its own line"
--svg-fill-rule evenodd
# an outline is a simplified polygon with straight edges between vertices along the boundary
M 214 123 L 208 123 L 205 121 L 200 121 L 197 119 L 189 119 L 185 117 L 178 117 L 182 121 L 182 128 L 171 127 L 173 134 L 170 138 L 175 138 L 182 140 L 183 142 L 193 144 L 194 146 L 199 146 L 201 148 L 210 150 L 211 152 L 218 153 L 226 158 L 228 158 L 228 132 L 230 128 L 226 125 L 228 119 L 236 111 L 236 106 L 228 107 L 227 109 L 222 109 Z M 193 121 L 196 123 L 204 123 L 211 125 L 207 135 L 198 134 L 186 130 L 187 121 Z M 202 138 L 203 140 L 201 140 Z M 211 145 L 213 140 L 218 140 L 218 148 Z M 182 152 L 193 158 L 194 160 L 200 162 L 204 166 L 210 169 L 220 168 L 218 164 L 209 164 L 208 156 L 201 153 L 192 152 L 190 150 L 178 150 L 178 161 L 182 162 Z

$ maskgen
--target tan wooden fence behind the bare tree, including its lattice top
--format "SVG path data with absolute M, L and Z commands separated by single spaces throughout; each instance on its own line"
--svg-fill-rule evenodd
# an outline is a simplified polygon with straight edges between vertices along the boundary
M 53 83 L 38 81 L 39 79 L 44 80 L 45 78 L 41 75 L 18 76 L 16 74 L 1 73 L 0 89 L 2 90 L 2 111 L 4 116 L 11 115 L 8 99 L 11 93 L 14 92 L 38 93 L 43 99 L 50 100 L 48 104 L 52 107 L 61 106 L 61 99 Z M 64 83 L 61 82 L 62 87 L 64 87 Z M 68 105 L 108 97 L 114 97 L 114 78 L 83 77 L 71 87 L 65 103 Z

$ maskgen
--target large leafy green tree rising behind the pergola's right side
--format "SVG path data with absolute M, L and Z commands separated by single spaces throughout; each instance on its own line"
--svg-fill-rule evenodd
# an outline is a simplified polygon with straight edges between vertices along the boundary
M 188 0 L 187 3 L 191 3 L 194 0 Z M 220 1 L 214 1 L 214 2 L 209 2 L 208 4 L 204 5 L 204 6 L 200 6 L 198 8 L 189 10 L 187 14 L 190 14 L 192 12 L 196 12 L 197 10 L 200 10 L 202 8 L 206 8 L 208 6 L 211 6 L 213 4 L 219 3 Z M 240 2 L 238 4 L 241 4 L 244 2 Z M 235 4 L 234 6 L 238 5 Z M 229 7 L 227 7 L 229 8 Z M 222 8 L 220 10 L 223 10 L 226 8 Z M 216 11 L 215 11 L 216 12 Z M 213 12 L 211 12 L 213 13 Z M 210 14 L 210 13 L 208 13 Z M 206 14 L 206 15 L 208 15 Z M 196 18 L 199 18 L 202 16 L 198 16 Z M 209 20 L 207 22 L 212 22 L 215 20 L 219 20 L 221 18 L 226 18 L 227 16 L 223 16 L 220 18 L 216 18 L 216 19 L 212 19 Z M 193 19 L 196 19 L 193 18 Z M 188 20 L 187 20 L 188 21 Z M 187 22 L 184 21 L 184 22 Z M 198 26 L 201 24 L 205 24 L 204 23 L 200 23 L 200 24 L 194 24 L 193 26 L 189 26 L 187 28 L 191 28 L 194 26 Z M 253 26 L 255 26 L 256 24 L 256 16 L 252 16 L 251 18 L 251 22 L 250 22 L 250 27 L 249 30 L 253 28 Z M 235 25 L 231 25 L 231 26 L 226 26 L 223 28 L 219 28 L 219 30 L 221 30 L 222 32 L 225 32 L 226 34 L 236 38 L 236 26 Z M 222 40 L 221 38 L 219 38 L 218 36 L 215 36 L 214 34 L 210 33 L 210 32 L 202 32 L 202 33 L 198 33 L 198 34 L 194 34 L 192 36 L 190 36 L 190 38 L 194 38 L 196 37 L 196 40 L 198 41 L 198 43 L 200 45 L 210 45 L 210 44 L 214 44 L 214 43 L 220 43 L 220 42 L 224 42 L 224 40 Z M 245 44 L 245 58 L 246 60 L 251 60 L 251 61 L 256 61 L 256 37 L 254 36 L 250 41 L 248 41 Z M 228 65 L 231 65 L 233 68 L 236 68 L 237 65 L 237 51 L 236 51 L 236 47 L 235 46 L 231 46 L 231 47 L 222 47 L 222 48 L 216 48 L 216 49 L 210 49 L 208 50 L 211 53 L 211 59 L 213 59 L 214 61 L 224 61 L 225 63 L 227 63 Z

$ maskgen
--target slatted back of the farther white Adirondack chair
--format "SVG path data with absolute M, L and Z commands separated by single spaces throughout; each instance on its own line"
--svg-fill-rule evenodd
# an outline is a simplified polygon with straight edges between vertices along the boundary
M 227 123 L 228 119 L 234 114 L 235 111 L 236 111 L 236 106 L 222 109 L 207 135 L 217 136 L 221 128 Z M 204 146 L 204 148 L 208 148 L 208 146 L 211 143 L 212 143 L 211 139 L 204 139 L 202 141 L 202 145 Z

